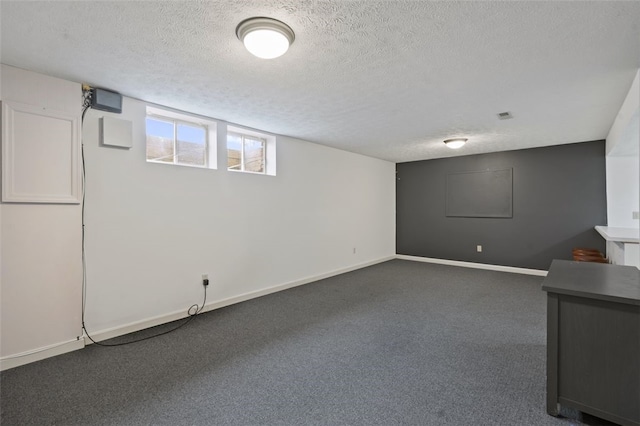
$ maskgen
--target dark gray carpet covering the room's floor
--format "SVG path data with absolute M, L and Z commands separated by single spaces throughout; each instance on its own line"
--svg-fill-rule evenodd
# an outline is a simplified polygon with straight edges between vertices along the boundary
M 394 260 L 1 374 L 2 425 L 568 425 L 542 278 Z M 215 285 L 209 287 L 215 297 Z M 163 326 L 165 327 L 165 326 Z M 158 332 L 156 327 L 120 339 Z

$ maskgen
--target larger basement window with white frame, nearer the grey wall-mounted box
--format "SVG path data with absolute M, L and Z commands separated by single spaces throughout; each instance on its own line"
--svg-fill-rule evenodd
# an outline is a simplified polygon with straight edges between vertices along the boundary
M 216 124 L 210 120 L 147 108 L 147 161 L 216 168 Z

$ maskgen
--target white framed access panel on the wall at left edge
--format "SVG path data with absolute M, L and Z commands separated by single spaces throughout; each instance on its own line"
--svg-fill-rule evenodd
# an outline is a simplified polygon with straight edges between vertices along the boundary
M 2 201 L 80 203 L 78 116 L 2 102 Z

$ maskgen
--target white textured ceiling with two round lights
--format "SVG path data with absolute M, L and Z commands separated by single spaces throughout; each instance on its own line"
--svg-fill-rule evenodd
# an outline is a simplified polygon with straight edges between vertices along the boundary
M 0 14 L 5 64 L 394 162 L 603 139 L 640 67 L 640 2 L 3 0 Z M 252 16 L 293 28 L 286 55 L 244 49 Z

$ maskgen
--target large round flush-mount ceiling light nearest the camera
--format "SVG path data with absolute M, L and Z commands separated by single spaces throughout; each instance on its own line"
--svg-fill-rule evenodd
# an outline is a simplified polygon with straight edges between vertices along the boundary
M 284 55 L 295 39 L 284 22 L 271 18 L 249 18 L 238 24 L 236 36 L 258 58 L 273 59 Z

